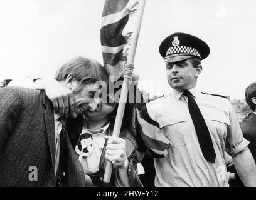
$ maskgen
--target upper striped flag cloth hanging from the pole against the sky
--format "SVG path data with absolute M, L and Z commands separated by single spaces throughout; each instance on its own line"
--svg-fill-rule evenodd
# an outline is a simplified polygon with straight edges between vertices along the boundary
M 106 0 L 100 41 L 104 67 L 117 81 L 124 73 L 132 41 L 139 0 Z

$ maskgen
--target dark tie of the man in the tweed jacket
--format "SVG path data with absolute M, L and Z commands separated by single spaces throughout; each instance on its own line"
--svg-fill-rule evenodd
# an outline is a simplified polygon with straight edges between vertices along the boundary
M 61 121 L 62 130 L 60 132 L 60 157 L 56 187 L 67 187 L 67 130 L 65 119 L 61 119 Z

